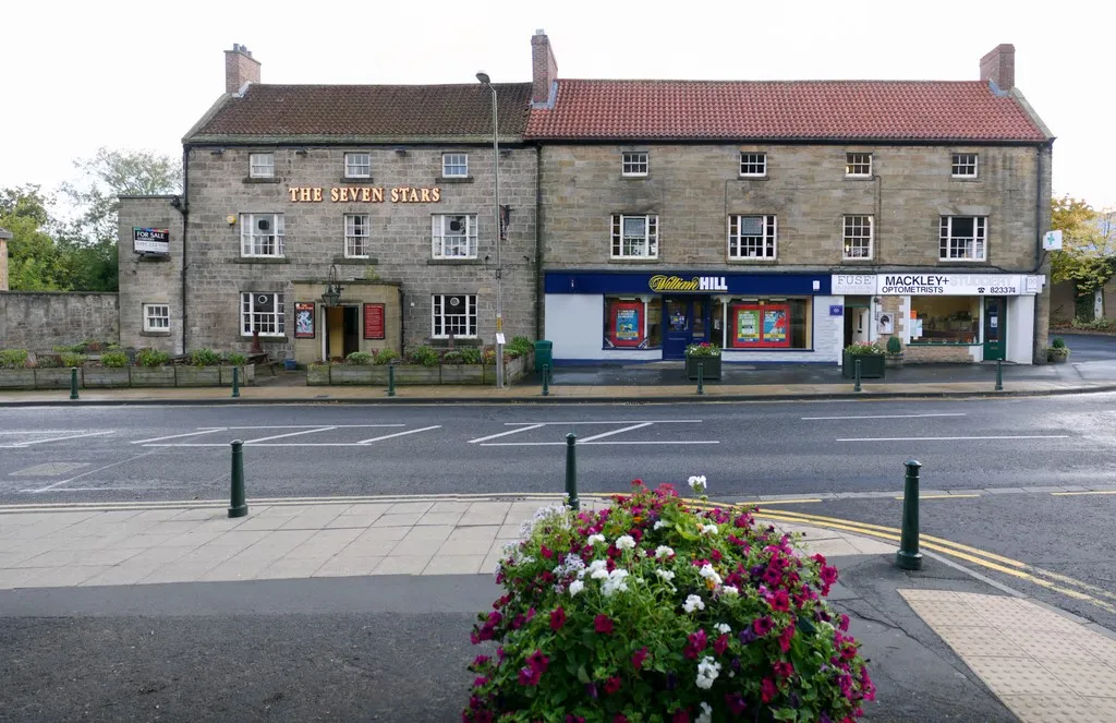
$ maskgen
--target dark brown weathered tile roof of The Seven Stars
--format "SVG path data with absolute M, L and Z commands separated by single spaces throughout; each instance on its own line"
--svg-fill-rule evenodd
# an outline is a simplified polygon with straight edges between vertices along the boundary
M 501 135 L 521 135 L 530 83 L 496 84 Z M 191 137 L 491 136 L 492 92 L 470 85 L 250 85 Z M 189 140 L 189 139 L 187 139 Z

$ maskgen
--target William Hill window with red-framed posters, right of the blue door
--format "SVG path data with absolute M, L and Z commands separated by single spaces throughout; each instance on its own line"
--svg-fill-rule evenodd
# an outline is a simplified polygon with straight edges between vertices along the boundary
M 729 302 L 729 349 L 812 349 L 814 299 L 733 298 Z

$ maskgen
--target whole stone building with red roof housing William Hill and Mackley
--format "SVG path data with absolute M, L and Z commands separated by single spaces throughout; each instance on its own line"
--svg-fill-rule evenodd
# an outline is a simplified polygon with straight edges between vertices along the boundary
M 556 359 L 1038 358 L 1054 137 L 1012 46 L 972 82 L 681 82 L 559 78 L 532 44 Z

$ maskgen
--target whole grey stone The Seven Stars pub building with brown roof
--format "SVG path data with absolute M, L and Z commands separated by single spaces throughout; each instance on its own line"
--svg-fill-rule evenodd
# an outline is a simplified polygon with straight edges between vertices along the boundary
M 268 85 L 243 46 L 183 139 L 183 196 L 125 198 L 121 342 L 307 363 L 536 336 L 529 83 Z M 339 297 L 327 291 L 339 287 Z M 327 301 L 328 299 L 328 303 Z

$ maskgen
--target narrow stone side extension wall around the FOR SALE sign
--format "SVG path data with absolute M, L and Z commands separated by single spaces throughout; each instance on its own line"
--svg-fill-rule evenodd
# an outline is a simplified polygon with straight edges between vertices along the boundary
M 117 221 L 119 263 L 121 344 L 151 346 L 182 353 L 182 213 L 172 206 L 173 196 L 121 198 Z M 132 229 L 165 228 L 171 231 L 170 256 L 142 256 L 133 250 Z M 143 330 L 144 304 L 166 304 L 171 312 L 167 331 Z

